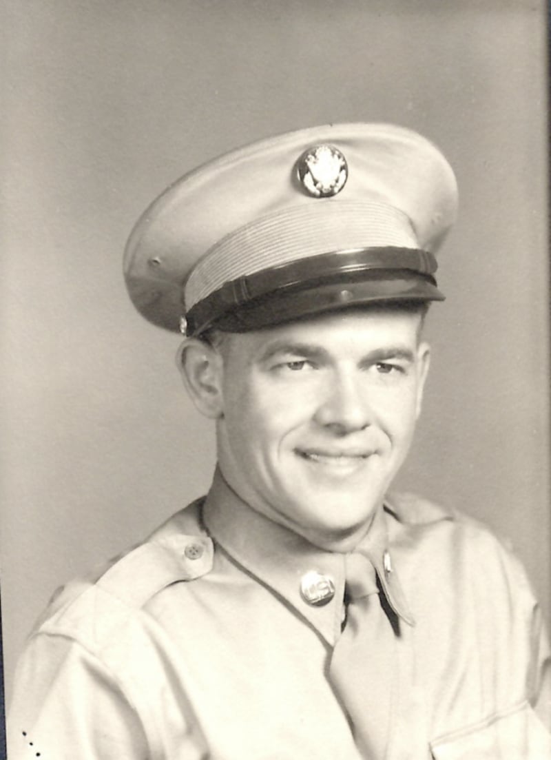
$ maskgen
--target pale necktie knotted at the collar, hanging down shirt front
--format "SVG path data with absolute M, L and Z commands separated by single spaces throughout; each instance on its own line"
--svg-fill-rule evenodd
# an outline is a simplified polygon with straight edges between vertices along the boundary
M 345 556 L 348 600 L 344 631 L 335 644 L 329 669 L 366 760 L 385 758 L 396 668 L 394 629 L 381 605 L 375 569 L 356 551 Z

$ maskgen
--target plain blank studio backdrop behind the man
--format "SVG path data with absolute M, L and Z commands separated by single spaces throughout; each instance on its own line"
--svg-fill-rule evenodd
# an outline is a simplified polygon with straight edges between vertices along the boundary
M 55 587 L 211 480 L 213 430 L 182 388 L 179 337 L 125 293 L 131 226 L 198 163 L 323 122 L 414 128 L 454 166 L 448 299 L 429 315 L 432 372 L 397 485 L 511 540 L 548 613 L 544 2 L 8 0 L 4 13 L 8 694 Z

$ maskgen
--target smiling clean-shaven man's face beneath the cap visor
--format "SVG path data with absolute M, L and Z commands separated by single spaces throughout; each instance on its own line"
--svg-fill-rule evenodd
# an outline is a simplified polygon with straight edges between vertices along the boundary
M 230 335 L 217 442 L 239 496 L 318 546 L 357 543 L 410 448 L 420 321 L 368 309 Z

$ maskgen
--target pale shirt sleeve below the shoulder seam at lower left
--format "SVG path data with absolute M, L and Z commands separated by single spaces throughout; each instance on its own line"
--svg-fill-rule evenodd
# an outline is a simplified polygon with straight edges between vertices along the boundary
M 8 714 L 10 760 L 146 760 L 141 720 L 115 676 L 81 644 L 30 639 Z

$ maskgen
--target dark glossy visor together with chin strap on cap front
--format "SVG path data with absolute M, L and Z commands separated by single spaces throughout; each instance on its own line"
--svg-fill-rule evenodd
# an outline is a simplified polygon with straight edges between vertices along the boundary
M 254 330 L 388 299 L 443 300 L 432 276 L 436 268 L 432 253 L 393 246 L 310 256 L 225 283 L 189 310 L 186 334 L 215 326 Z

